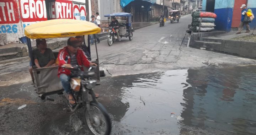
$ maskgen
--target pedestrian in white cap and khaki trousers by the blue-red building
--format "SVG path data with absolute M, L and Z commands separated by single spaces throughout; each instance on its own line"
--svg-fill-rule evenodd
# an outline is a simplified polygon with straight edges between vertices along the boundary
M 242 9 L 242 15 L 241 15 L 241 22 L 238 27 L 238 32 L 236 34 L 241 34 L 241 31 L 244 29 L 244 26 L 246 26 L 246 32 L 245 33 L 250 33 L 250 26 L 249 22 L 244 22 L 245 19 L 245 14 L 248 12 L 248 9 L 245 4 L 243 4 L 240 9 Z

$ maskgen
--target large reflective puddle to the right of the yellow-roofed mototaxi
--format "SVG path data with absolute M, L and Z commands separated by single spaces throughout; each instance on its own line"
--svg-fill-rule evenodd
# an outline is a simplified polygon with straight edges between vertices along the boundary
M 255 68 L 112 77 L 102 80 L 110 98 L 101 102 L 117 134 L 255 134 Z

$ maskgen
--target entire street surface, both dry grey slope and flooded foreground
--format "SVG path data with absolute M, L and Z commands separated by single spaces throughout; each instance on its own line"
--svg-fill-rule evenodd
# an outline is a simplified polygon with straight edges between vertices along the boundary
M 161 28 L 138 29 L 133 41 L 98 45 L 102 67 L 114 76 L 103 77 L 95 89 L 111 116 L 113 135 L 256 133 L 255 67 L 189 69 L 206 66 L 204 60 L 220 66 L 253 61 L 185 44 L 178 50 L 190 21 L 185 16 Z M 0 68 L 0 75 L 15 83 L 1 81 L 6 86 L 0 86 L 0 135 L 89 135 L 82 109 L 68 112 L 57 95 L 41 100 L 27 68 L 28 61 Z

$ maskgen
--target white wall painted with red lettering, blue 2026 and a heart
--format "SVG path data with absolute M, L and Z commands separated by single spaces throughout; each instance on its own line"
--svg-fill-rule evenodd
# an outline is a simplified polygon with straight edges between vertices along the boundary
M 88 4 L 91 15 L 91 0 Z M 85 0 L 0 0 L 0 33 L 15 43 L 30 24 L 62 18 L 89 21 L 87 14 Z

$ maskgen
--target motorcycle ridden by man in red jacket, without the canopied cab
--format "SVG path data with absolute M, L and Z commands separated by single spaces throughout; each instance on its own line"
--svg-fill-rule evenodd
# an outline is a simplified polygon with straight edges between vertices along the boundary
M 62 68 L 66 67 L 62 66 Z M 95 71 L 91 70 L 95 67 L 90 67 L 88 71 L 82 71 L 81 68 L 82 66 L 79 65 L 67 68 L 74 71 L 73 77 L 70 79 L 70 86 L 76 102 L 75 106 L 70 104 L 69 108 L 71 112 L 75 112 L 79 107 L 84 107 L 84 121 L 91 133 L 95 135 L 109 135 L 111 132 L 110 117 L 102 104 L 97 102 L 93 91 L 97 81 L 91 79 L 95 75 Z M 65 97 L 63 93 L 58 95 Z M 64 101 L 68 102 L 67 100 Z

